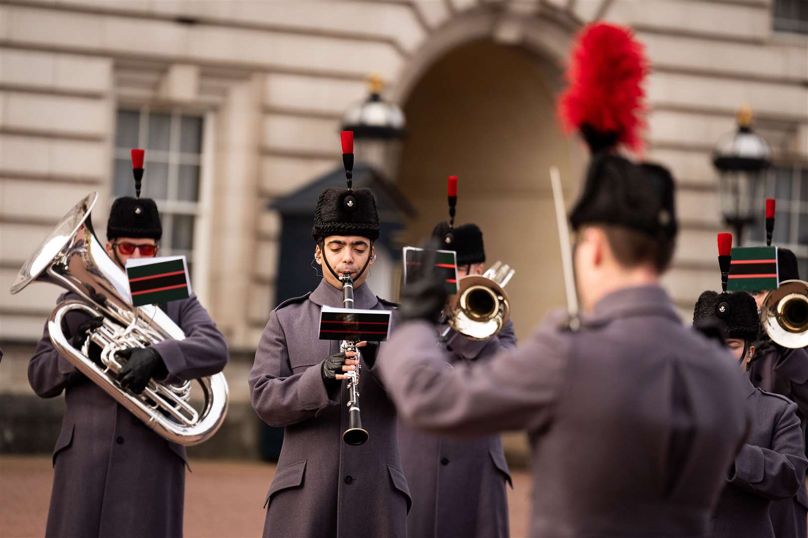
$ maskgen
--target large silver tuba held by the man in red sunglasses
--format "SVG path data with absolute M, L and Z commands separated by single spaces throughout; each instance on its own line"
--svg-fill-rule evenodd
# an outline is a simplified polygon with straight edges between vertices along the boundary
M 31 282 L 50 282 L 80 299 L 57 305 L 48 319 L 53 347 L 78 371 L 89 377 L 129 412 L 166 440 L 190 446 L 208 440 L 225 420 L 228 388 L 223 373 L 200 377 L 204 402 L 191 405 L 191 382 L 162 384 L 149 380 L 141 394 L 120 386 L 117 375 L 125 364 L 116 352 L 124 348 L 184 340 L 185 334 L 155 305 L 133 307 L 126 274 L 107 256 L 95 237 L 90 211 L 98 193 L 88 194 L 74 206 L 27 259 L 19 270 L 11 293 Z M 103 317 L 103 324 L 90 332 L 81 351 L 62 332 L 70 312 Z M 90 343 L 101 348 L 101 364 L 90 359 Z

